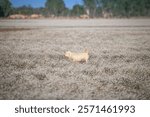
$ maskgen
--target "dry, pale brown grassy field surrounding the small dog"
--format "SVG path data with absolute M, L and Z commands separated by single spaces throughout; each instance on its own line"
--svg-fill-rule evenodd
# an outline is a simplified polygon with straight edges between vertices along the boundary
M 150 19 L 1 19 L 0 99 L 150 99 Z

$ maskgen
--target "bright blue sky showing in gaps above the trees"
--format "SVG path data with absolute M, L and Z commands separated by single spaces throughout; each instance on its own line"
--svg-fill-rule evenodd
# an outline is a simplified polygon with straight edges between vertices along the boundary
M 11 0 L 14 7 L 31 5 L 32 7 L 44 7 L 46 0 Z M 66 7 L 72 8 L 75 4 L 82 4 L 82 0 L 64 0 Z

